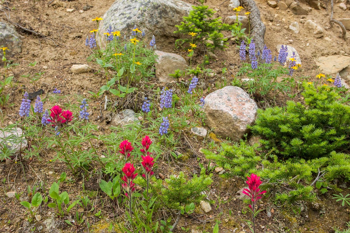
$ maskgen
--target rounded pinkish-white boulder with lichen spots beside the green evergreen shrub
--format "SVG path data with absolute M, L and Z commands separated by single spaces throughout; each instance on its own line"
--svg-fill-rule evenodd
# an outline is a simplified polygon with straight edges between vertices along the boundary
M 258 106 L 240 87 L 227 86 L 205 97 L 205 122 L 218 136 L 239 140 L 255 121 Z

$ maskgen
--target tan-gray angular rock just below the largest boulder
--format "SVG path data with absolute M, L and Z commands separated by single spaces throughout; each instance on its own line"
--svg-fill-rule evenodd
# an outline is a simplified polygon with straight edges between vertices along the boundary
M 168 83 L 175 80 L 169 74 L 175 73 L 177 69 L 185 70 L 188 68 L 186 60 L 178 54 L 155 51 L 158 55 L 155 64 L 155 77 L 159 82 Z M 177 80 L 175 80 L 177 81 Z

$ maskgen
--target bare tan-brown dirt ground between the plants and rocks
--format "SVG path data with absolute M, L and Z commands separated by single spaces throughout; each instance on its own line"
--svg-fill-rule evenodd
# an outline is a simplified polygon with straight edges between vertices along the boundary
M 4 1 L 2 6 L 8 7 L 10 10 L 10 20 L 14 23 L 19 23 L 23 27 L 30 30 L 41 32 L 47 38 L 37 37 L 34 34 L 28 34 L 23 30 L 18 29 L 23 36 L 22 53 L 14 58 L 18 66 L 12 67 L 9 73 L 14 75 L 14 81 L 18 82 L 18 86 L 12 90 L 10 103 L 14 103 L 12 107 L 5 109 L 3 122 L 1 126 L 6 126 L 18 119 L 18 109 L 20 106 L 21 95 L 24 91 L 33 92 L 35 89 L 42 88 L 45 93 L 52 92 L 54 88 L 62 90 L 63 94 L 82 94 L 88 96 L 88 91 L 97 92 L 99 88 L 105 84 L 103 74 L 97 73 L 100 68 L 94 62 L 87 62 L 86 58 L 90 56 L 90 50 L 85 46 L 85 38 L 89 31 L 95 26 L 91 19 L 96 16 L 102 17 L 106 10 L 112 5 L 113 0 L 74 0 L 74 1 L 59 1 L 55 0 L 33 0 L 19 1 L 11 0 Z M 189 3 L 198 4 L 196 1 L 187 1 Z M 315 77 L 319 73 L 315 63 L 315 59 L 320 56 L 333 54 L 350 54 L 350 36 L 345 40 L 341 38 L 341 29 L 336 24 L 331 26 L 329 22 L 329 10 L 310 9 L 309 14 L 305 16 L 294 15 L 290 10 L 277 10 L 269 7 L 264 0 L 257 0 L 257 5 L 260 9 L 262 21 L 266 25 L 265 43 L 268 48 L 271 48 L 273 56 L 277 54 L 275 49 L 277 44 L 288 44 L 293 46 L 298 52 L 302 60 L 302 68 L 298 70 L 297 76 Z M 33 5 L 34 3 L 34 5 Z M 205 3 L 211 8 L 218 9 L 217 16 L 225 17 L 234 15 L 228 9 L 228 2 L 223 0 L 207 0 Z M 300 2 L 303 8 L 309 6 L 305 1 Z M 324 2 L 327 5 L 327 2 Z M 90 6 L 89 10 L 84 10 L 83 7 Z M 73 12 L 67 12 L 67 9 L 74 8 Z M 2 12 L 1 12 L 2 13 Z M 242 12 L 244 14 L 244 12 Z M 334 8 L 334 17 L 343 18 L 349 17 L 349 10 L 341 10 L 338 7 Z M 307 20 L 316 21 L 324 29 L 322 38 L 315 38 L 312 32 L 304 29 L 302 23 Z M 5 14 L 0 14 L 0 20 L 7 22 Z M 292 22 L 298 22 L 301 30 L 299 34 L 294 34 L 288 27 Z M 174 28 L 175 30 L 175 28 Z M 350 32 L 348 31 L 348 35 Z M 331 41 L 324 40 L 324 37 L 329 37 Z M 157 38 L 161 40 L 161 38 Z M 172 51 L 173 48 L 166 48 L 166 51 Z M 181 51 L 176 51 L 181 53 Z M 216 73 L 221 73 L 223 67 L 240 66 L 238 49 L 236 44 L 230 41 L 230 46 L 225 51 L 217 52 L 218 59 L 212 61 L 209 68 L 212 68 Z M 36 61 L 34 67 L 28 66 L 29 63 Z M 93 68 L 93 72 L 84 73 L 81 75 L 73 75 L 69 69 L 72 64 L 89 64 Z M 1 68 L 0 73 L 3 73 Z M 237 68 L 231 69 L 228 72 L 230 80 L 238 71 Z M 45 72 L 42 78 L 37 81 L 36 88 L 32 83 L 29 83 L 28 78 L 21 77 L 25 74 L 34 74 L 37 72 Z M 155 80 L 151 80 L 155 82 Z M 158 85 L 158 84 L 157 84 Z M 212 90 L 215 90 L 212 89 Z M 91 106 L 99 106 L 101 100 L 96 100 L 91 103 Z M 78 101 L 77 101 L 78 104 Z M 44 108 L 49 108 L 49 105 Z M 93 108 L 91 108 L 93 109 Z M 97 108 L 99 109 L 99 107 Z M 92 110 L 91 118 L 96 119 L 99 115 L 99 110 Z M 200 144 L 194 142 L 195 148 L 200 148 Z M 199 155 L 200 161 L 205 161 L 204 155 Z M 69 174 L 63 163 L 47 163 L 52 155 L 48 154 L 42 158 L 42 161 L 34 160 L 26 167 L 26 172 L 23 174 L 22 168 L 17 167 L 14 163 L 1 163 L 2 172 L 0 180 L 6 178 L 9 180 L 9 185 L 0 184 L 0 190 L 3 194 L 8 191 L 13 191 L 15 187 L 17 191 L 26 191 L 27 184 L 32 185 L 37 181 L 37 177 L 41 177 L 48 184 L 54 182 L 61 172 L 65 171 Z M 175 167 L 175 170 L 198 169 L 196 159 L 189 159 L 186 162 L 179 162 L 178 165 L 163 164 L 163 167 Z M 157 171 L 163 172 L 164 169 Z M 53 175 L 49 175 L 53 172 Z M 167 174 L 165 174 L 167 175 Z M 77 182 L 65 184 L 63 189 L 70 189 L 73 194 L 79 195 L 78 189 L 81 188 L 79 182 L 81 177 L 77 177 Z M 91 185 L 91 189 L 96 189 L 96 180 L 91 179 L 86 185 Z M 95 188 L 93 188 L 95 187 Z M 214 185 L 211 190 L 216 192 L 216 197 L 222 197 L 222 202 L 217 202 L 217 208 L 213 208 L 211 216 L 205 216 L 209 219 L 207 224 L 214 226 L 213 216 L 220 216 L 222 220 L 222 228 L 220 232 L 240 232 L 241 230 L 250 232 L 243 219 L 247 218 L 240 211 L 244 204 L 240 200 L 236 200 L 236 192 L 244 187 L 244 181 L 241 179 L 232 179 L 230 181 L 223 180 L 218 175 L 214 176 Z M 342 208 L 340 203 L 336 203 L 331 199 L 332 192 L 328 192 L 321 196 L 316 204 L 308 206 L 295 206 L 300 208 L 300 214 L 286 212 L 283 207 L 277 207 L 271 203 L 260 203 L 262 209 L 266 211 L 258 217 L 257 232 L 331 232 L 333 226 L 343 227 L 346 221 L 349 221 L 349 210 Z M 219 197 L 217 197 L 219 196 Z M 224 199 L 226 198 L 226 201 Z M 232 210 L 232 216 L 229 216 L 229 210 Z M 51 210 L 52 211 L 52 210 Z M 271 217 L 267 217 L 267 212 L 271 213 Z M 26 210 L 19 204 L 16 199 L 8 199 L 5 195 L 1 195 L 0 201 L 0 232 L 33 232 L 28 228 L 26 223 Z M 43 218 L 49 218 L 51 212 L 49 208 L 43 208 Z M 113 214 L 106 212 L 106 216 L 110 219 Z M 90 217 L 93 220 L 94 227 L 90 232 L 105 232 L 99 231 L 98 228 L 103 228 L 107 220 L 100 221 L 96 217 Z M 202 218 L 203 219 L 203 218 Z M 226 219 L 228 221 L 226 222 Z M 188 227 L 188 223 L 194 225 L 203 225 L 198 219 L 182 219 L 181 224 Z M 62 228 L 65 232 L 73 232 L 68 228 L 68 225 L 63 223 L 63 220 L 58 221 L 57 229 Z M 90 221 L 91 222 L 91 221 Z M 26 225 L 27 224 L 27 225 Z M 109 225 L 109 224 L 107 224 Z M 210 228 L 210 227 L 209 227 Z M 74 229 L 75 231 L 75 229 Z M 209 231 L 209 230 L 207 230 Z M 42 232 L 39 227 L 34 232 Z M 79 230 L 79 232 L 87 232 Z

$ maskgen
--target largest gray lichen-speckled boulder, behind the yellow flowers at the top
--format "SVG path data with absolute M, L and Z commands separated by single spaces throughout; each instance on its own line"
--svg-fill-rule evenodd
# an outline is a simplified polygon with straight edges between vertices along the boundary
M 181 0 L 116 0 L 103 15 L 99 33 L 103 35 L 111 24 L 113 30 L 129 38 L 137 25 L 145 31 L 147 41 L 155 35 L 156 42 L 162 42 L 175 35 L 174 26 L 180 24 L 182 16 L 188 16 L 191 6 Z

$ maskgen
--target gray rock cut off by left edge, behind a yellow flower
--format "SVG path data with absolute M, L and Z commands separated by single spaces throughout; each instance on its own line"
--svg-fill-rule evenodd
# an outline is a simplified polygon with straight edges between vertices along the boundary
M 0 22 L 0 47 L 9 49 L 6 50 L 7 58 L 22 52 L 22 40 L 12 24 Z

